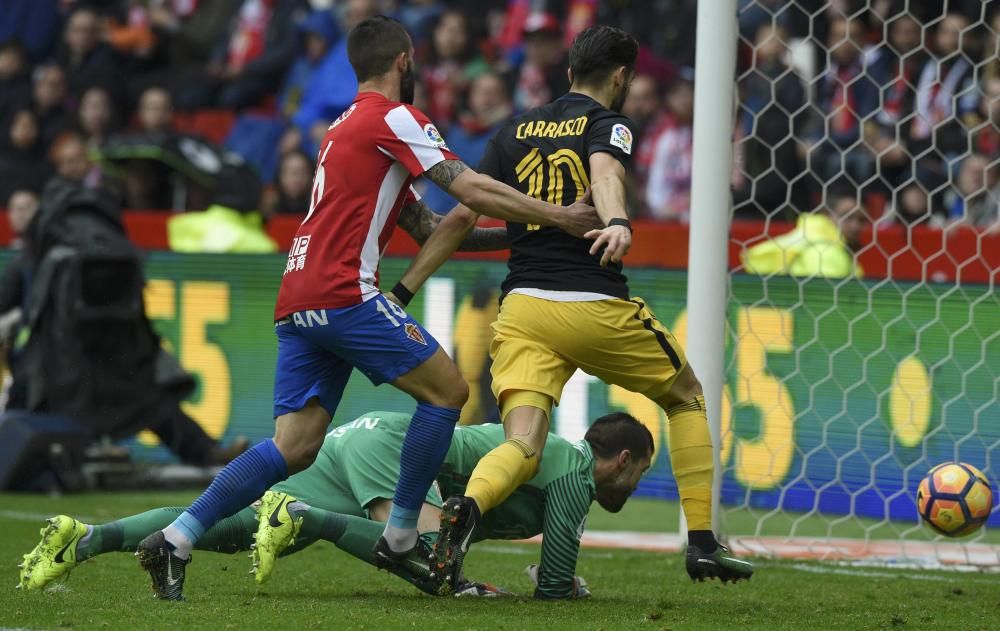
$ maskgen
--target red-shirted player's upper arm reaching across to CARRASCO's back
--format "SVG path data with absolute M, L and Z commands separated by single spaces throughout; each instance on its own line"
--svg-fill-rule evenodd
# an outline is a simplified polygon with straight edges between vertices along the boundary
M 555 226 L 578 237 L 604 225 L 586 198 L 572 206 L 549 204 L 476 173 L 461 160 L 438 162 L 424 176 L 464 206 L 496 219 Z

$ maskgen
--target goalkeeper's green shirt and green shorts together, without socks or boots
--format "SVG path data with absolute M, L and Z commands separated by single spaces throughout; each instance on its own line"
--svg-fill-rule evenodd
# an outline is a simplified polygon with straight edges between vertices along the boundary
M 364 516 L 359 502 L 372 496 L 392 497 L 398 468 L 391 469 L 398 467 L 409 424 L 409 414 L 363 414 L 331 431 L 316 462 L 275 488 L 317 508 Z M 500 425 L 456 428 L 438 475 L 441 496 L 464 494 L 476 464 L 504 440 Z M 347 479 L 352 471 L 356 478 Z M 367 491 L 361 494 L 364 497 L 360 489 Z M 595 493 L 590 445 L 549 434 L 538 475 L 484 515 L 474 540 L 543 534 L 535 595 L 568 598 L 573 593 L 580 536 Z

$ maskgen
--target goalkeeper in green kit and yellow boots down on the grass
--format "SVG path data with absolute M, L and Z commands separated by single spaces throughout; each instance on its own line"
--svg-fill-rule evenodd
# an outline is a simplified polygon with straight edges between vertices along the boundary
M 256 580 L 262 583 L 275 559 L 325 539 L 375 564 L 372 548 L 382 534 L 399 472 L 399 454 L 410 418 L 369 412 L 342 425 L 323 442 L 315 464 L 275 485 L 259 506 L 220 521 L 198 540 L 199 550 L 235 553 L 253 549 Z M 441 495 L 460 495 L 479 459 L 505 440 L 500 425 L 459 427 L 420 513 L 423 554 L 390 569 L 420 590 L 447 593 L 446 577 L 430 562 L 428 538 L 437 536 Z M 574 576 L 584 521 L 595 499 L 618 512 L 650 466 L 653 437 L 632 416 L 613 413 L 597 419 L 584 439 L 571 443 L 552 435 L 538 475 L 487 513 L 472 541 L 525 539 L 544 534 L 542 558 L 531 576 L 535 597 L 588 596 Z M 42 540 L 24 556 L 19 588 L 39 589 L 80 562 L 105 552 L 132 552 L 143 537 L 163 528 L 183 508 L 157 508 L 108 524 L 91 526 L 60 515 L 42 529 Z M 256 532 L 255 532 L 256 531 Z M 254 543 L 256 539 L 256 543 Z M 493 595 L 495 588 L 463 581 L 456 590 Z

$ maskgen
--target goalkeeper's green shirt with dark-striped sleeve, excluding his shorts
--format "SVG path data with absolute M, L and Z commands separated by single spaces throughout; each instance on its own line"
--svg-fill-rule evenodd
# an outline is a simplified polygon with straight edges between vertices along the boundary
M 461 495 L 479 460 L 505 440 L 500 425 L 458 427 L 441 467 L 442 497 Z M 484 515 L 475 540 L 542 533 L 538 598 L 568 598 L 587 513 L 594 500 L 594 454 L 586 441 L 550 434 L 538 474 Z

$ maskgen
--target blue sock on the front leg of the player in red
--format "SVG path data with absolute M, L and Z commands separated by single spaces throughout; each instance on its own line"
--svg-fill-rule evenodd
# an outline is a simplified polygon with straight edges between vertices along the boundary
M 448 448 L 451 447 L 451 435 L 455 432 L 455 424 L 458 423 L 461 412 L 458 408 L 444 408 L 427 403 L 417 405 L 417 411 L 403 440 L 399 483 L 392 500 L 387 534 L 396 534 L 400 530 L 410 531 L 412 538 L 416 538 L 420 507 L 427 497 L 427 490 L 437 477 Z M 397 549 L 392 545 L 392 540 L 389 543 Z

